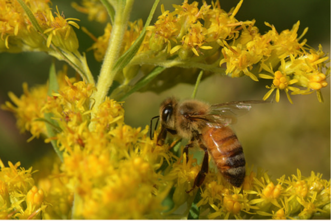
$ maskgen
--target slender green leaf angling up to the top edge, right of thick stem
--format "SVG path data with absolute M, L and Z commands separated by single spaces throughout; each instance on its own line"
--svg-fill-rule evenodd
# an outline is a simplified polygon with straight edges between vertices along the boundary
M 137 53 L 142 41 L 144 40 L 144 37 L 146 34 L 146 27 L 149 26 L 150 21 L 153 18 L 153 15 L 154 15 L 158 2 L 159 2 L 159 0 L 155 0 L 154 5 L 146 20 L 146 24 L 145 24 L 144 28 L 142 29 L 139 37 L 136 39 L 136 41 L 133 43 L 133 45 L 118 59 L 118 61 L 114 65 L 113 70 L 115 72 L 122 70 L 132 60 L 133 56 Z

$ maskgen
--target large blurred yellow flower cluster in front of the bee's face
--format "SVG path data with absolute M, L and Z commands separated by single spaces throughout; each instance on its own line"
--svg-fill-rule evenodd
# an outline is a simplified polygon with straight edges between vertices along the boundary
M 143 218 L 151 211 L 161 212 L 161 202 L 171 185 L 157 170 L 164 160 L 171 161 L 167 147 L 155 146 L 147 138 L 148 128 L 141 130 L 124 124 L 122 105 L 114 100 L 107 98 L 95 118 L 90 119 L 88 104 L 94 87 L 64 76 L 58 77 L 58 81 L 60 90 L 51 97 L 47 98 L 46 86 L 34 88 L 31 92 L 39 93 L 26 91 L 21 99 L 14 97 L 17 107 L 10 103 L 5 107 L 11 108 L 18 119 L 28 121 L 25 124 L 42 118 L 36 113 L 52 113 L 52 119 L 58 123 L 57 136 L 46 140 L 56 140 L 64 153 L 61 172 L 53 170 L 50 176 L 39 178 L 39 184 L 47 193 L 45 200 L 49 204 L 59 203 L 60 197 L 65 197 L 65 201 L 61 208 L 56 207 L 58 211 L 49 205 L 44 217 L 70 217 L 68 207 L 72 200 L 74 218 Z M 27 102 L 33 96 L 42 101 L 40 105 Z M 29 116 L 20 115 L 23 107 L 32 106 L 37 109 L 26 112 Z M 93 131 L 88 128 L 91 121 L 96 123 Z M 64 214 L 59 214 L 59 210 Z

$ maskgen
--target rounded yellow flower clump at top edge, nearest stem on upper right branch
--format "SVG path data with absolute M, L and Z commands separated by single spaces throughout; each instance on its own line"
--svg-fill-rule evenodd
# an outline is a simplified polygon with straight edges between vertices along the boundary
M 216 46 L 216 41 L 231 39 L 236 33 L 236 27 L 244 23 L 238 23 L 234 19 L 241 3 L 238 4 L 231 16 L 220 9 L 218 1 L 213 4 L 213 8 L 203 3 L 198 8 L 198 3 L 188 4 L 184 1 L 182 6 L 174 5 L 175 11 L 170 13 L 162 8 L 162 16 L 154 26 L 148 27 L 155 39 L 150 40 L 151 48 L 161 50 L 164 43 L 167 44 L 167 52 L 174 54 L 178 52 L 181 59 L 192 56 L 203 55 L 202 50 L 212 49 Z M 178 45 L 178 42 L 182 44 Z

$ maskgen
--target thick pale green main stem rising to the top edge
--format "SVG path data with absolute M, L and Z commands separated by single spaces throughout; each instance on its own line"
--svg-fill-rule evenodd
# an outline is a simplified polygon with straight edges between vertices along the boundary
M 134 0 L 118 1 L 117 6 L 114 7 L 116 9 L 116 14 L 112 34 L 109 38 L 108 48 L 101 66 L 99 79 L 96 85 L 97 91 L 93 95 L 95 103 L 92 115 L 97 111 L 98 106 L 104 101 L 104 98 L 106 97 L 109 88 L 112 86 L 117 74 L 117 72 L 113 71 L 113 68 L 117 59 L 120 57 L 119 54 L 122 47 L 123 35 L 127 30 L 127 23 L 129 21 L 133 2 Z M 90 127 L 90 129 L 93 129 L 93 124 L 91 124 Z

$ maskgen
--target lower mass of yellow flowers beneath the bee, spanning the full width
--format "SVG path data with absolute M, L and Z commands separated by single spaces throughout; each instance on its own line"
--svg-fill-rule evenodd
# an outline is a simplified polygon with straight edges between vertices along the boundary
M 18 120 L 30 119 L 30 124 L 40 116 L 25 112 L 22 105 L 25 109 L 38 107 L 35 112 L 39 114 L 52 113 L 59 132 L 56 137 L 46 139 L 57 140 L 64 153 L 64 162 L 42 160 L 54 163 L 47 166 L 51 169 L 42 166 L 49 163 L 41 162 L 37 166 L 40 172 L 36 173 L 36 186 L 31 178 L 32 169 L 19 171 L 19 164 L 13 166 L 11 163 L 9 168 L 2 166 L 0 178 L 3 183 L 9 173 L 11 176 L 19 174 L 15 176 L 21 177 L 17 182 L 26 182 L 20 185 L 6 183 L 3 187 L 3 200 L 6 195 L 15 195 L 6 193 L 15 186 L 23 189 L 12 191 L 26 195 L 19 194 L 21 198 L 16 201 L 7 199 L 2 217 L 182 218 L 187 216 L 190 210 L 187 203 L 192 202 L 195 194 L 200 194 L 196 203 L 200 218 L 331 216 L 331 181 L 323 180 L 320 174 L 313 172 L 305 178 L 298 170 L 292 178 L 283 176 L 274 182 L 265 172 L 254 173 L 248 169 L 243 186 L 236 188 L 227 183 L 217 169 L 211 168 L 201 193 L 197 190 L 187 193 L 200 170 L 193 155 L 186 160 L 187 156 L 181 154 L 183 146 L 178 142 L 160 146 L 149 138 L 147 127 L 126 125 L 124 109 L 114 100 L 106 98 L 95 118 L 90 118 L 88 104 L 93 103 L 90 97 L 94 87 L 68 79 L 63 75 L 65 70 L 58 77 L 59 91 L 51 97 L 46 99 L 46 86 L 37 87 L 26 90 L 20 99 L 15 97 L 16 108 L 10 103 L 5 106 L 15 111 Z M 44 99 L 40 99 L 41 94 Z M 23 102 L 27 97 L 39 98 L 40 105 Z M 23 112 L 30 116 L 24 116 Z M 94 130 L 88 127 L 91 121 L 95 121 Z M 172 204 L 164 204 L 167 199 Z M 27 206 L 17 210 L 15 206 L 18 205 L 14 202 L 22 203 L 22 200 L 26 200 Z

